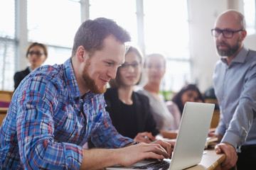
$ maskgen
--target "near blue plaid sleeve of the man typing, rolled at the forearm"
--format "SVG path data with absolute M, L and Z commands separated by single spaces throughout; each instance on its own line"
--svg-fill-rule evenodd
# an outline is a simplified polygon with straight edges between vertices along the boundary
M 28 169 L 80 169 L 82 164 L 82 147 L 54 140 L 55 85 L 33 77 L 18 96 L 18 147 L 21 164 Z

